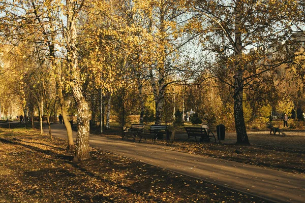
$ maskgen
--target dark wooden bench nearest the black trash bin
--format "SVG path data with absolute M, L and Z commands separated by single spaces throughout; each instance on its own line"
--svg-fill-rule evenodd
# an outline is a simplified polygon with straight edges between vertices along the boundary
M 195 137 L 195 140 L 197 142 L 197 137 L 199 137 L 199 141 L 200 142 L 210 142 L 211 139 L 214 138 L 215 142 L 216 142 L 216 137 L 214 136 L 214 133 L 212 131 L 210 131 L 208 128 L 204 128 L 204 127 L 185 127 L 187 133 L 188 133 L 188 139 L 192 137 Z M 186 140 L 186 141 L 187 141 Z

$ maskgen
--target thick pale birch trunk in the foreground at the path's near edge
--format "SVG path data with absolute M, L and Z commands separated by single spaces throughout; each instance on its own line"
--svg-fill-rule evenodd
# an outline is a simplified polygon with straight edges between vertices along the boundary
M 82 94 L 80 70 L 78 67 L 78 52 L 76 49 L 76 16 L 84 1 L 77 5 L 74 1 L 66 0 L 67 28 L 66 28 L 66 49 L 67 62 L 70 70 L 71 81 L 73 82 L 72 92 L 76 101 L 78 113 L 78 125 L 76 133 L 76 149 L 74 161 L 82 161 L 90 158 L 89 154 L 89 106 Z

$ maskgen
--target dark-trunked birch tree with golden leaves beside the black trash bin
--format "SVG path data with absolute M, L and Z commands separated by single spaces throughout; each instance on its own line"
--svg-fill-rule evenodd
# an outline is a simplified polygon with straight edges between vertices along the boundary
M 297 5 L 295 1 L 284 4 L 282 1 L 248 0 L 187 1 L 187 5 L 199 16 L 199 22 L 193 25 L 193 30 L 202 34 L 201 41 L 205 50 L 215 53 L 211 57 L 218 59 L 217 76 L 234 90 L 236 143 L 249 145 L 243 117 L 243 90 L 254 78 L 275 69 L 291 57 L 287 58 L 288 54 L 278 54 L 272 58 L 275 56 L 272 52 L 247 54 L 246 50 L 250 45 L 264 50 L 261 48 L 265 45 L 289 37 L 287 30 L 294 21 L 289 20 L 287 13 L 295 12 Z M 283 47 L 279 48 L 284 50 Z M 271 59 L 267 55 L 271 55 Z M 214 70 L 215 73 L 217 71 Z M 229 73 L 225 77 L 220 74 L 224 71 Z M 231 80 L 228 80 L 228 76 Z

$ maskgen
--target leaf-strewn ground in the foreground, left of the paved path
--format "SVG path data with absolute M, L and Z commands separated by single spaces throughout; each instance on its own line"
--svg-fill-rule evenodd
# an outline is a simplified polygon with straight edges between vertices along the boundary
M 0 128 L 0 146 L 0 202 L 263 202 L 95 149 L 75 163 L 34 130 Z

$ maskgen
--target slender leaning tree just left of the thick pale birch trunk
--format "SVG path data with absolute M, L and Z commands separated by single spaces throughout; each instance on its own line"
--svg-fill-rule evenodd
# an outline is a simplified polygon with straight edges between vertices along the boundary
M 51 62 L 51 69 L 54 71 L 58 97 L 62 114 L 64 117 L 68 146 L 73 148 L 73 138 L 71 125 L 67 119 L 65 100 L 63 96 L 63 81 L 60 71 L 60 59 L 58 59 L 59 49 L 62 47 L 62 19 L 58 16 L 62 12 L 60 1 L 5 1 L 2 2 L 4 14 L 1 18 L 3 22 L 2 34 L 8 43 L 18 45 L 18 43 L 31 43 L 38 50 L 44 51 L 45 57 Z

